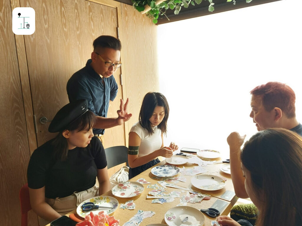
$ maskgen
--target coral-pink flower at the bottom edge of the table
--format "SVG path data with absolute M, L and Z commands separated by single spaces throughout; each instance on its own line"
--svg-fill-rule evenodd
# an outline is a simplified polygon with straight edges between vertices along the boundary
M 85 216 L 85 220 L 76 224 L 76 226 L 118 226 L 120 220 L 116 220 L 114 216 L 109 217 L 104 211 L 94 214 L 90 212 Z

